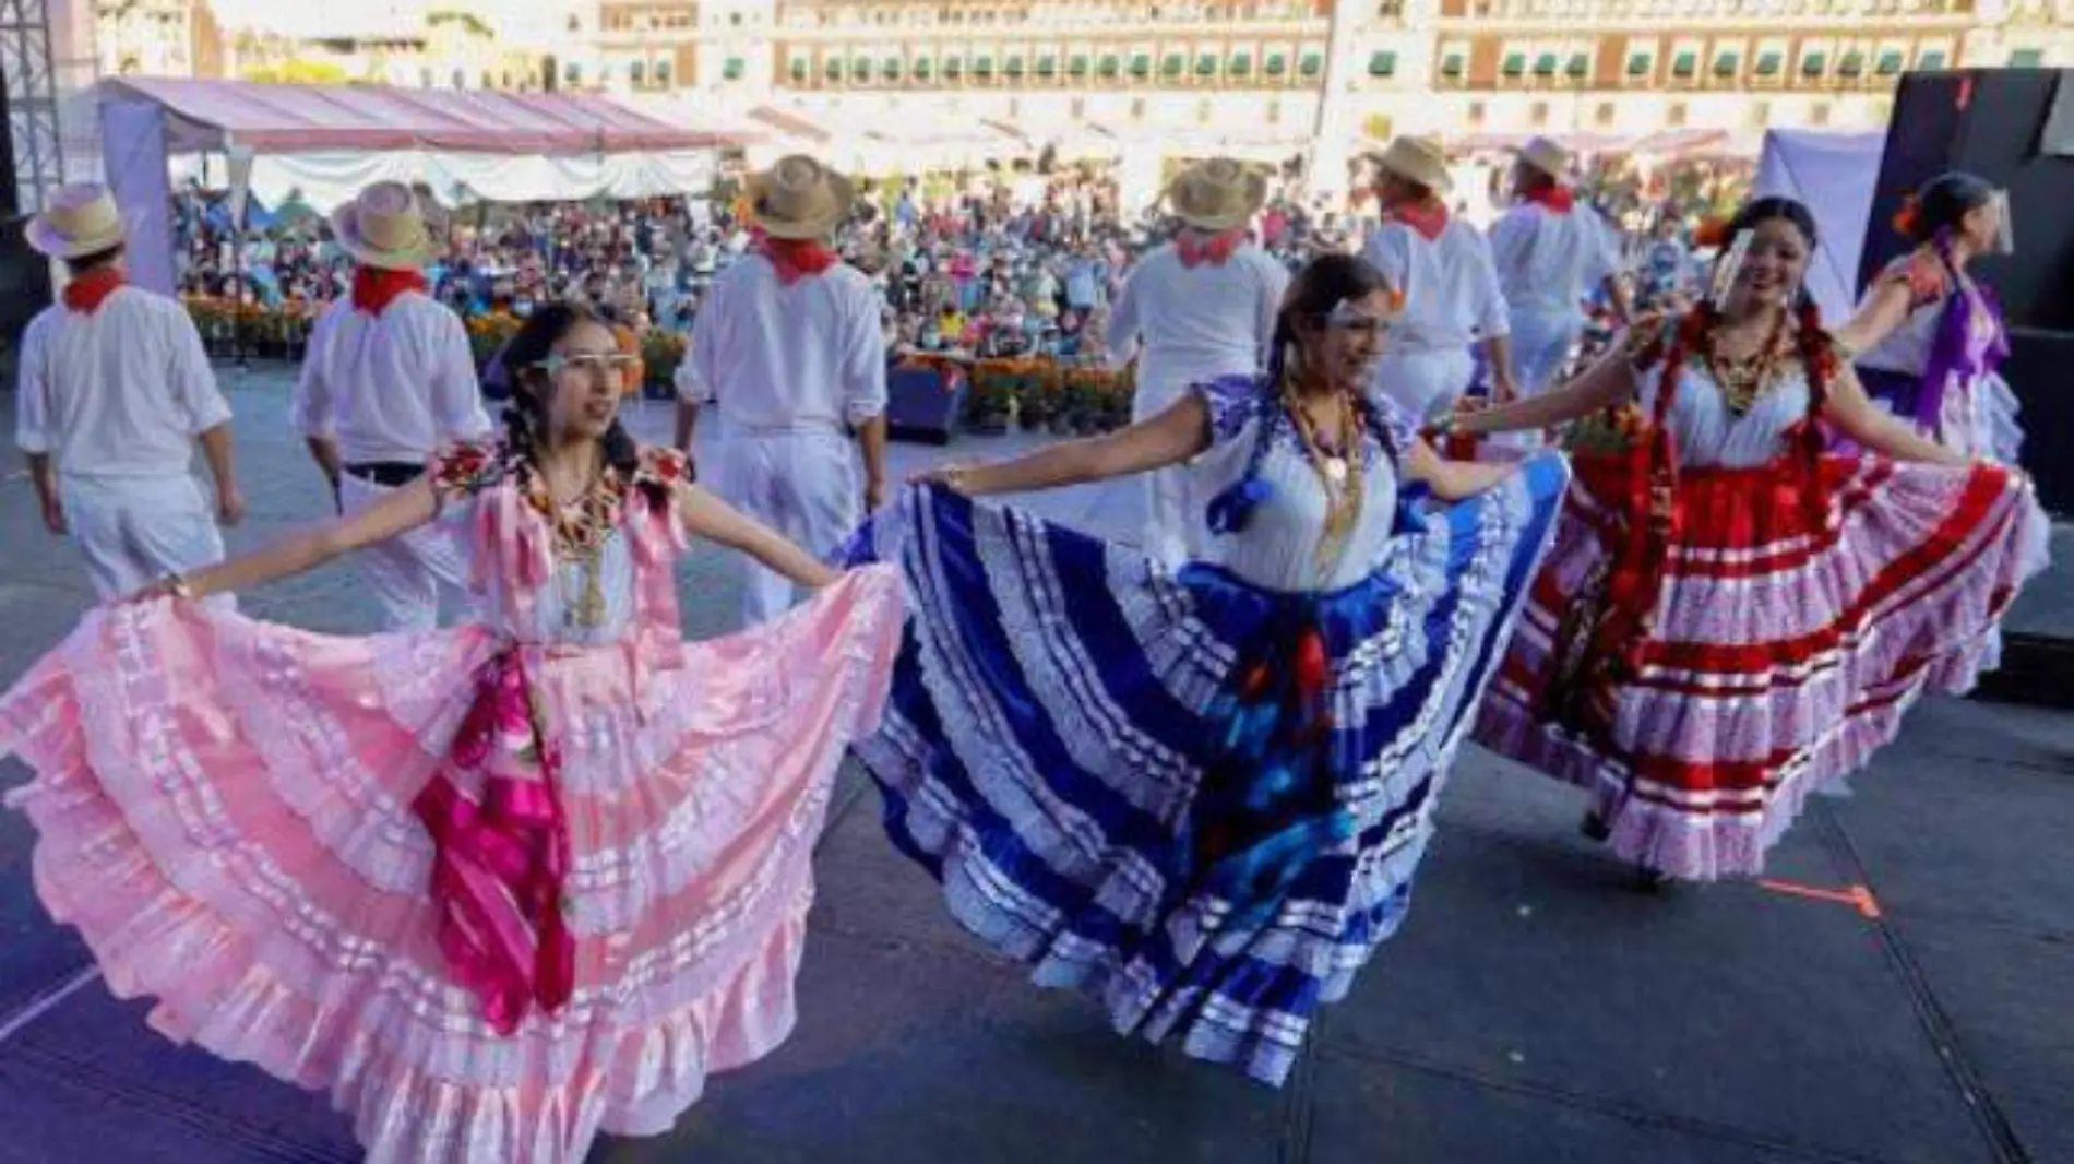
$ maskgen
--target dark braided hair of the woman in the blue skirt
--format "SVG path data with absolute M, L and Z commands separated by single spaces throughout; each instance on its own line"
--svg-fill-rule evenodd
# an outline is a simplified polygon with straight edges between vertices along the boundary
M 1232 488 L 1217 494 L 1209 504 L 1209 527 L 1215 533 L 1236 533 L 1246 527 L 1253 517 L 1253 508 L 1267 498 L 1267 481 L 1261 479 L 1261 463 L 1267 459 L 1267 450 L 1273 448 L 1280 429 L 1292 427 L 1296 421 L 1282 407 L 1282 392 L 1288 376 L 1294 373 L 1298 363 L 1298 324 L 1307 328 L 1319 328 L 1332 315 L 1340 303 L 1367 299 L 1377 290 L 1394 290 L 1383 272 L 1375 270 L 1373 264 L 1358 255 L 1327 253 L 1305 264 L 1296 278 L 1290 280 L 1288 290 L 1282 295 L 1282 307 L 1276 311 L 1276 330 L 1267 340 L 1267 369 L 1259 378 L 1255 415 L 1259 415 L 1259 429 L 1253 436 L 1253 450 L 1246 456 L 1246 471 L 1240 473 Z M 1356 411 L 1361 413 L 1363 427 L 1375 438 L 1383 454 L 1396 463 L 1404 450 L 1398 448 L 1398 438 L 1392 436 L 1390 425 L 1383 423 L 1379 409 L 1367 398 L 1358 398 Z

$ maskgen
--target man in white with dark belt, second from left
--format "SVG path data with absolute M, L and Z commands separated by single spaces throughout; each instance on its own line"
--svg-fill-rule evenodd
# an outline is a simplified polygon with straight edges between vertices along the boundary
M 359 264 L 353 297 L 317 320 L 292 417 L 340 512 L 355 512 L 417 479 L 442 444 L 494 427 L 469 332 L 425 286 L 433 241 L 411 187 L 367 187 L 332 216 L 332 234 Z M 448 523 L 369 546 L 359 564 L 388 631 L 429 631 L 442 598 L 469 602 L 467 552 Z

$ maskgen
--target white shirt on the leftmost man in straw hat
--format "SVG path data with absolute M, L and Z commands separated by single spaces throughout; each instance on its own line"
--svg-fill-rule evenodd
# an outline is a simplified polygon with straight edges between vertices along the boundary
M 93 313 L 54 305 L 21 338 L 15 444 L 64 477 L 185 477 L 195 438 L 230 423 L 187 309 L 118 286 Z

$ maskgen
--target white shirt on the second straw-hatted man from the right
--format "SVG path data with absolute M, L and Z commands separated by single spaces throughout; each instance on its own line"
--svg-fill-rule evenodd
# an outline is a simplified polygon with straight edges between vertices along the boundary
M 1450 218 L 1431 243 L 1402 222 L 1383 222 L 1363 257 L 1404 293 L 1404 315 L 1390 326 L 1385 351 L 1466 349 L 1512 334 L 1491 245 L 1460 218 Z

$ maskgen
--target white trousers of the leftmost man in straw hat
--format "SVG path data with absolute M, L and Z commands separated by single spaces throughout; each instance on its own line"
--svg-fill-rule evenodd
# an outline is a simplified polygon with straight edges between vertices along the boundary
M 104 600 L 135 593 L 166 575 L 189 575 L 224 560 L 216 508 L 189 477 L 60 477 L 58 502 L 87 577 Z M 228 593 L 205 602 L 234 610 Z

